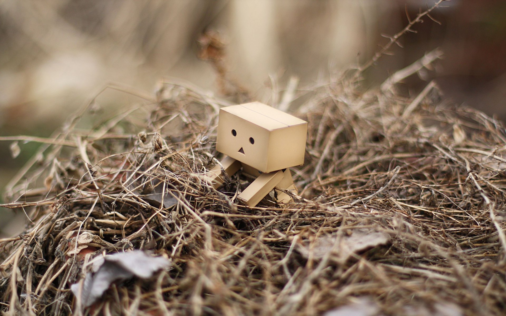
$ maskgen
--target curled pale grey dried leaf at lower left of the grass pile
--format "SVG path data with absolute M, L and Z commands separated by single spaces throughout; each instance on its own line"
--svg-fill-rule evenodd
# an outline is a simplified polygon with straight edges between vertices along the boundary
M 143 251 L 115 253 L 95 261 L 84 281 L 73 284 L 70 289 L 75 296 L 80 296 L 82 305 L 88 307 L 95 303 L 113 282 L 134 276 L 147 279 L 170 264 L 167 258 L 151 257 Z

